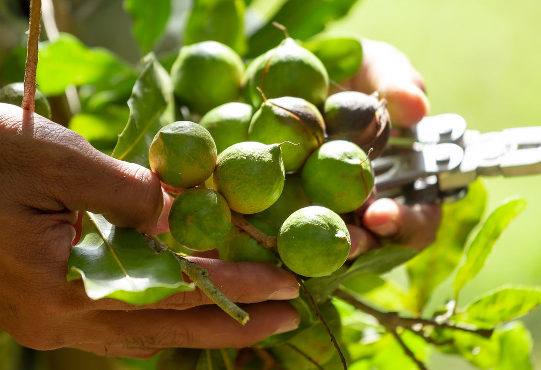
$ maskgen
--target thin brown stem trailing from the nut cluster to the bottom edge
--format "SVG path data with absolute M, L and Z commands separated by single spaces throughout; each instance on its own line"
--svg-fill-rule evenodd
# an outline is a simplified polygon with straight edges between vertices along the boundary
M 254 238 L 261 244 L 263 247 L 271 249 L 272 247 L 276 246 L 276 237 L 269 237 L 267 234 L 263 233 L 261 230 L 259 230 L 254 225 L 250 224 L 249 221 L 247 221 L 244 216 L 240 213 L 232 212 L 231 213 L 231 221 L 233 224 L 237 227 L 242 228 L 242 230 L 246 231 L 249 236 Z M 273 249 L 271 251 L 274 253 L 276 259 L 281 261 L 280 255 L 276 253 Z M 325 331 L 327 331 L 327 334 L 329 334 L 329 337 L 331 337 L 331 342 L 333 343 L 334 348 L 337 349 L 338 355 L 340 356 L 340 360 L 342 361 L 342 365 L 344 365 L 344 369 L 347 370 L 347 364 L 346 364 L 346 358 L 344 357 L 344 354 L 342 353 L 342 350 L 340 349 L 340 346 L 338 345 L 338 342 L 336 338 L 334 338 L 334 334 L 332 333 L 331 329 L 328 327 L 327 322 L 323 318 L 323 315 L 321 315 L 321 312 L 319 311 L 318 305 L 315 304 L 314 298 L 312 297 L 312 294 L 307 290 L 306 286 L 304 285 L 304 281 L 302 281 L 300 275 L 298 273 L 295 273 L 291 271 L 289 267 L 286 266 L 282 262 L 283 268 L 287 270 L 289 273 L 291 273 L 295 280 L 299 283 L 300 287 L 302 288 L 302 291 L 306 294 L 306 297 L 308 298 L 308 301 L 310 302 L 311 306 L 314 308 L 315 315 L 321 321 L 321 324 L 325 327 Z

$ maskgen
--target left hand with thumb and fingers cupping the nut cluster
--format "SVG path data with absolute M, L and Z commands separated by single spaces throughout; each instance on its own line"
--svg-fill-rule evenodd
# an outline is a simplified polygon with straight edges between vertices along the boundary
M 160 180 L 9 104 L 0 104 L 0 173 L 0 328 L 20 344 L 148 358 L 163 347 L 249 346 L 298 325 L 298 313 L 280 301 L 298 295 L 297 282 L 259 263 L 193 259 L 230 299 L 247 304 L 246 326 L 199 290 L 138 307 L 90 300 L 81 280 L 66 279 L 77 211 L 102 213 L 144 233 L 163 232 L 171 198 Z

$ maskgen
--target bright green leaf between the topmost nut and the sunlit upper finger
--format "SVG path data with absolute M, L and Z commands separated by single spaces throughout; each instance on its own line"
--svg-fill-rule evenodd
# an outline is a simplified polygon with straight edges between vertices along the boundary
M 358 35 L 321 33 L 302 46 L 323 62 L 329 79 L 336 83 L 353 77 L 361 69 L 362 45 Z

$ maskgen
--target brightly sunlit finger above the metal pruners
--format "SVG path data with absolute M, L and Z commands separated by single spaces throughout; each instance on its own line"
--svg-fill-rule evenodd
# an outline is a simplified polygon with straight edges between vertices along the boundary
M 394 46 L 368 39 L 362 40 L 361 70 L 345 83 L 350 90 L 365 93 L 377 91 L 387 99 L 391 121 L 409 127 L 430 110 L 423 77 L 403 52 Z

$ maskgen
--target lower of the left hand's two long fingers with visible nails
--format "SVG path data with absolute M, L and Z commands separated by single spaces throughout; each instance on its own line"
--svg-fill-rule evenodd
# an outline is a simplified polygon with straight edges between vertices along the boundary
M 116 347 L 241 348 L 299 325 L 298 312 L 287 302 L 268 301 L 243 309 L 250 316 L 244 326 L 213 305 L 183 311 L 101 311 L 70 335 L 84 333 L 90 343 Z

